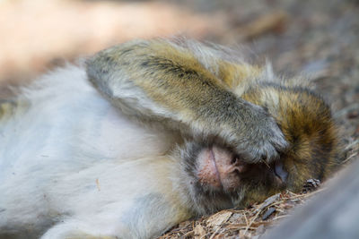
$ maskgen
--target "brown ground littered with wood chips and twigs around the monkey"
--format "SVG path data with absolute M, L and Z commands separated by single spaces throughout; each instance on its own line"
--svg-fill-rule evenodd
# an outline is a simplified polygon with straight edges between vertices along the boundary
M 0 1 L 0 81 L 29 81 L 131 38 L 186 35 L 241 46 L 276 73 L 302 73 L 332 105 L 346 163 L 359 151 L 359 1 Z M 0 91 L 0 97 L 7 94 Z M 246 210 L 183 222 L 162 238 L 258 238 L 305 203 L 284 192 Z

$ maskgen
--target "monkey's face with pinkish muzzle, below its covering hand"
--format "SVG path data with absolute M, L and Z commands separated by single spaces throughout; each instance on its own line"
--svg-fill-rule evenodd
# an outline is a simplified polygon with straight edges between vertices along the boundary
M 196 142 L 181 150 L 189 196 L 200 213 L 248 206 L 286 187 L 282 161 L 246 164 L 230 149 Z

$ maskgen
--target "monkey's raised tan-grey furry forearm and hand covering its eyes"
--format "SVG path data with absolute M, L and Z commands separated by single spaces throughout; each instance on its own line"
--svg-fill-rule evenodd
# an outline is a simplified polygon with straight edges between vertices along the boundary
M 127 115 L 184 124 L 193 135 L 222 139 L 249 163 L 270 161 L 286 141 L 262 108 L 239 98 L 186 48 L 132 41 L 87 61 L 95 87 Z M 174 124 L 173 124 L 174 123 Z

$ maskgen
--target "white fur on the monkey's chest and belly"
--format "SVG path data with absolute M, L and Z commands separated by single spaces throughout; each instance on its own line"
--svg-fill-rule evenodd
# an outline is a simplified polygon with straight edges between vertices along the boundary
M 171 134 L 128 120 L 83 66 L 48 73 L 15 100 L 0 119 L 0 237 L 148 238 L 188 217 L 172 206 Z

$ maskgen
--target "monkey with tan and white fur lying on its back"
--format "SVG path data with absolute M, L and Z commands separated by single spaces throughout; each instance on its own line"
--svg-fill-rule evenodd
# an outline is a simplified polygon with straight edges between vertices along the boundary
M 236 54 L 132 40 L 4 99 L 0 238 L 153 238 L 328 178 L 326 101 Z

